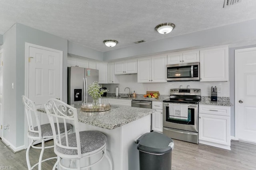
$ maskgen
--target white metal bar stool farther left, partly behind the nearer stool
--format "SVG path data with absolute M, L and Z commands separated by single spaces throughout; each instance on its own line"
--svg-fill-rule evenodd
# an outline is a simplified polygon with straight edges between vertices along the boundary
M 38 165 L 38 170 L 41 170 L 42 162 L 44 162 L 46 160 L 57 158 L 57 157 L 51 157 L 51 158 L 46 158 L 46 159 L 42 160 L 42 157 L 44 154 L 44 149 L 54 147 L 54 145 L 48 146 L 48 147 L 44 146 L 45 141 L 53 139 L 52 127 L 51 127 L 50 123 L 40 125 L 40 120 L 38 117 L 38 113 L 36 111 L 36 105 L 34 102 L 32 102 L 32 100 L 28 99 L 26 96 L 22 96 L 22 101 L 23 101 L 23 104 L 25 107 L 25 113 L 26 113 L 27 122 L 28 122 L 28 135 L 27 136 L 28 136 L 28 138 L 31 139 L 31 143 L 28 145 L 28 149 L 26 150 L 26 160 L 27 160 L 28 169 L 32 170 L 35 166 Z M 33 119 L 35 119 L 35 121 L 33 121 Z M 64 127 L 65 127 L 65 129 L 64 129 Z M 69 131 L 71 131 L 71 129 L 72 129 L 71 124 L 67 123 L 64 126 L 64 123 L 60 123 L 60 129 L 59 129 L 60 131 L 58 131 L 58 132 L 60 135 L 62 135 L 62 133 L 64 133 L 65 130 L 67 130 L 67 132 L 69 132 Z M 36 141 L 40 141 L 41 147 L 34 146 L 34 143 Z M 35 149 L 41 149 L 38 163 L 34 164 L 32 167 L 31 167 L 30 160 L 29 160 L 29 150 L 31 147 L 35 148 Z

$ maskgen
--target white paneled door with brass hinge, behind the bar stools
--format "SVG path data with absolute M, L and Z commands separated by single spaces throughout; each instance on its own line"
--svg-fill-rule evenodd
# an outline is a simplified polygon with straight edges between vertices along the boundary
M 29 47 L 28 98 L 44 107 L 50 98 L 62 97 L 62 52 L 45 47 Z M 60 69 L 61 68 L 61 69 Z M 41 123 L 48 123 L 42 115 Z

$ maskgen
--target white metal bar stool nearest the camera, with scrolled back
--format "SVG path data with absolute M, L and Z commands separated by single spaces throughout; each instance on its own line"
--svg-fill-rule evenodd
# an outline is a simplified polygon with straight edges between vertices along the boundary
M 106 136 L 99 131 L 79 131 L 78 130 L 78 117 L 76 108 L 56 99 L 50 99 L 45 105 L 45 109 L 50 120 L 53 136 L 54 136 L 54 152 L 58 156 L 58 160 L 54 165 L 53 170 L 58 169 L 86 169 L 94 166 L 100 162 L 104 157 L 107 158 L 112 170 L 112 162 L 106 154 Z M 60 124 L 59 122 L 74 122 L 75 133 L 68 134 L 60 138 Z M 56 122 L 56 123 L 54 123 Z M 66 128 L 65 128 L 66 130 Z M 84 166 L 81 165 L 82 158 L 90 159 L 91 156 L 102 153 L 102 156 L 92 164 L 88 163 Z M 71 160 L 67 166 L 61 161 L 62 159 Z M 73 164 L 76 161 L 76 166 Z M 88 161 L 90 162 L 90 160 Z M 74 167 L 75 166 L 75 167 Z M 82 166 L 82 167 L 81 167 Z

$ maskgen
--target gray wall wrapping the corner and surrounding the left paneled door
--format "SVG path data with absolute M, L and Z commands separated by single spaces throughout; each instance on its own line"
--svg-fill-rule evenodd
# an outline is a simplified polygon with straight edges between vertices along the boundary
M 4 34 L 4 138 L 14 147 L 24 145 L 25 42 L 63 51 L 63 101 L 67 102 L 68 41 L 49 33 L 16 23 Z M 16 50 L 15 50 L 16 49 Z M 14 90 L 11 83 L 14 82 Z M 6 93 L 8 92 L 8 93 Z

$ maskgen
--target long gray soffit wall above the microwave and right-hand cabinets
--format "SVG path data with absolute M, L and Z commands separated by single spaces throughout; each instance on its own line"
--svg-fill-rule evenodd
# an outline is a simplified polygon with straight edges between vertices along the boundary
M 142 43 L 126 48 L 104 52 L 104 61 L 126 57 L 145 56 L 176 51 L 177 49 L 195 49 L 225 44 L 242 44 L 256 40 L 256 20 L 217 27 L 204 31 L 170 37 L 158 41 Z M 161 35 L 159 35 L 161 36 Z M 251 43 L 252 44 L 252 43 Z

